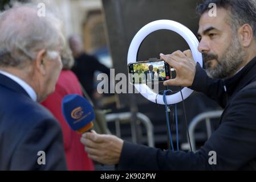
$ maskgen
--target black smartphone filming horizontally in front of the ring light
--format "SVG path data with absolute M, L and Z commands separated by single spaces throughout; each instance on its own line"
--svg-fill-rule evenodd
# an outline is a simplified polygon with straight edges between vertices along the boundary
M 149 84 L 172 78 L 169 64 L 164 60 L 138 61 L 128 64 L 131 84 Z

